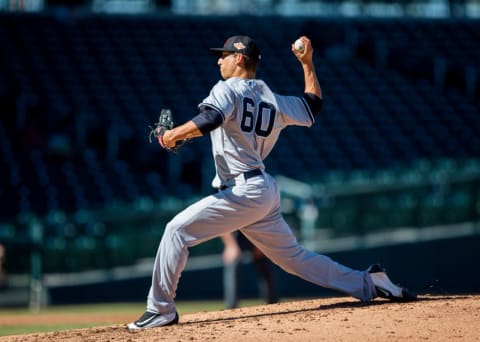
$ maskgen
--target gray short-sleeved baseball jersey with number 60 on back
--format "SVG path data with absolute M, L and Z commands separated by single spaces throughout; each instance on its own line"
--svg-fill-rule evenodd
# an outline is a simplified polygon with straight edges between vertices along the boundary
M 199 107 L 213 108 L 224 119 L 223 125 L 210 133 L 221 184 L 248 170 L 264 170 L 263 160 L 283 128 L 314 122 L 303 98 L 275 94 L 262 80 L 232 77 L 219 81 Z M 214 187 L 218 187 L 216 183 Z

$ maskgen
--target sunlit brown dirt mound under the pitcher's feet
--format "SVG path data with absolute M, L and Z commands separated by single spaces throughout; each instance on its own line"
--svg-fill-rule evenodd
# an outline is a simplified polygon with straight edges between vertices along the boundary
M 139 313 L 140 315 L 141 313 Z M 181 313 L 180 313 L 181 314 Z M 5 341 L 480 341 L 480 296 L 421 296 L 412 303 L 347 297 L 180 316 L 131 333 L 124 325 L 4 337 Z

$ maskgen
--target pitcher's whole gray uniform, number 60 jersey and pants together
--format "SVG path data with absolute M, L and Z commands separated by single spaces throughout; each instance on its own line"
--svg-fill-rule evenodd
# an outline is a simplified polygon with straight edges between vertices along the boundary
M 192 204 L 167 224 L 155 258 L 147 310 L 175 312 L 188 248 L 237 229 L 287 272 L 361 300 L 373 298 L 375 286 L 367 271 L 340 265 L 297 242 L 281 215 L 277 184 L 265 172 L 263 160 L 280 131 L 288 125 L 313 124 L 304 99 L 277 95 L 260 80 L 230 78 L 218 82 L 200 107 L 223 116 L 221 126 L 210 133 L 214 186 L 223 190 Z

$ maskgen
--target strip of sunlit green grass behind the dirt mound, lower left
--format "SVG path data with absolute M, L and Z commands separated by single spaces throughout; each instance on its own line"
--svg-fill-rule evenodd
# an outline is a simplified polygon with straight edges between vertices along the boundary
M 240 302 L 241 307 L 260 305 L 263 302 L 261 300 L 242 300 Z M 202 311 L 217 311 L 225 308 L 224 304 L 220 300 L 216 301 L 182 301 L 177 302 L 177 310 L 182 314 L 202 312 Z M 92 317 L 92 321 L 85 321 L 85 317 L 88 318 L 88 314 L 95 314 L 98 317 L 99 314 L 125 314 L 132 315 L 132 317 L 140 316 L 145 310 L 145 303 L 108 303 L 108 304 L 83 304 L 83 305 L 59 305 L 51 306 L 42 309 L 40 312 L 32 312 L 28 309 L 0 309 L 0 336 L 16 335 L 16 334 L 28 334 L 37 332 L 51 332 L 70 329 L 91 328 L 95 326 L 105 326 L 114 323 L 105 323 L 95 321 Z M 62 323 L 62 314 L 81 314 L 81 322 Z M 3 324 L 2 319 L 11 318 L 17 316 L 19 320 L 25 317 L 55 317 L 52 324 Z M 127 323 L 127 322 L 119 322 Z

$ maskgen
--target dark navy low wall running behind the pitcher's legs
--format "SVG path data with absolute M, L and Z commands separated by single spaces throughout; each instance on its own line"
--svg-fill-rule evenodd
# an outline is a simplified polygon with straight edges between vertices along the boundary
M 389 271 L 392 280 L 418 293 L 459 294 L 480 292 L 480 234 L 406 243 L 354 251 L 328 253 L 334 260 L 354 268 L 366 268 L 379 262 Z M 219 256 L 220 257 L 220 256 Z M 241 298 L 258 296 L 254 267 L 242 269 Z M 320 297 L 337 292 L 312 285 L 275 267 L 275 280 L 280 297 Z M 83 285 L 58 286 L 49 289 L 51 304 L 74 304 L 115 301 L 144 301 L 150 276 L 105 281 Z M 222 268 L 220 266 L 186 270 L 180 280 L 178 300 L 221 299 Z

